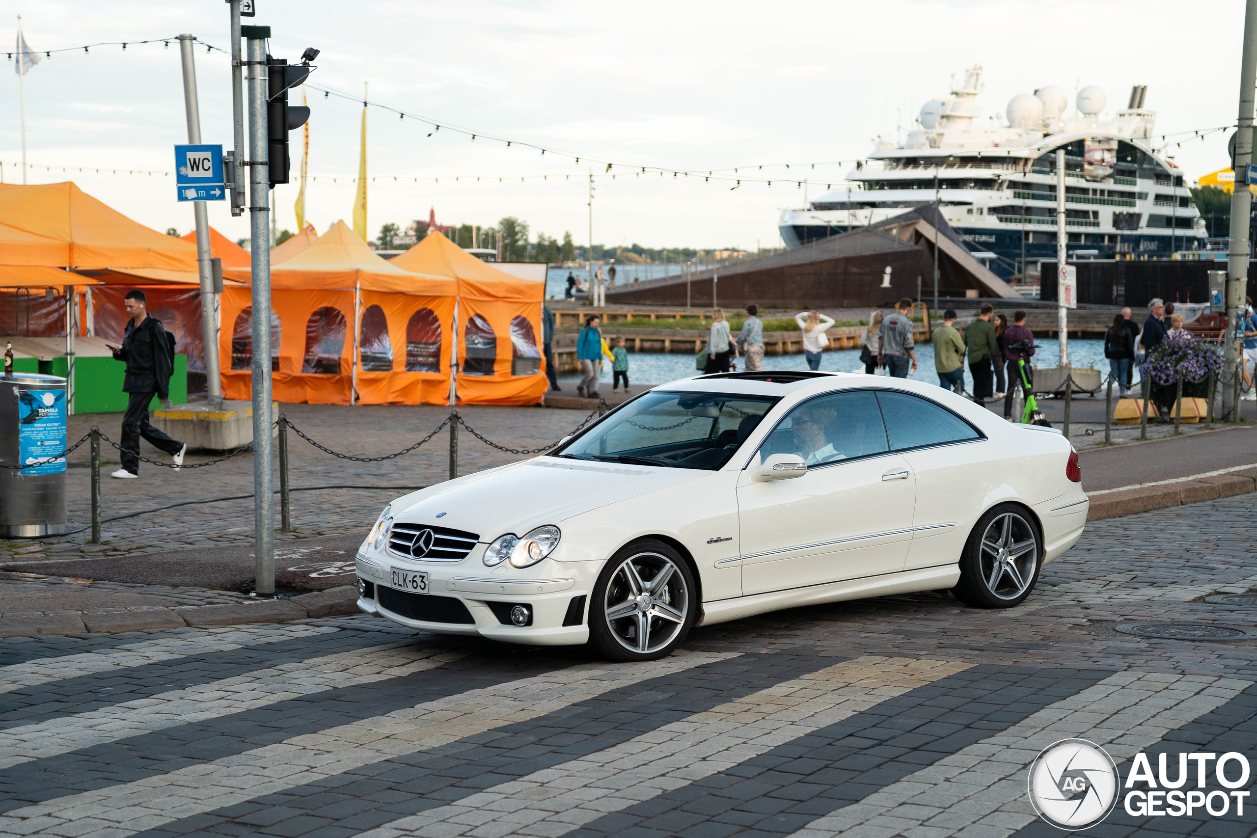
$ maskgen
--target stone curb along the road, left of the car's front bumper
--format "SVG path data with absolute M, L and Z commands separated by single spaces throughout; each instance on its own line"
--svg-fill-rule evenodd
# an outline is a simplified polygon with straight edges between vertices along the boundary
M 143 608 L 106 613 L 10 614 L 0 617 L 0 637 L 141 632 L 185 626 L 240 626 L 287 623 L 293 619 L 357 614 L 358 589 L 342 585 L 292 599 L 260 599 L 229 606 Z

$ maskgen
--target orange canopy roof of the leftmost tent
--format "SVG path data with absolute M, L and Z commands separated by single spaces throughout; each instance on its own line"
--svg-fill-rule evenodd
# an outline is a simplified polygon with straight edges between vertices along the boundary
M 0 263 L 196 271 L 196 248 L 150 230 L 70 182 L 0 183 Z

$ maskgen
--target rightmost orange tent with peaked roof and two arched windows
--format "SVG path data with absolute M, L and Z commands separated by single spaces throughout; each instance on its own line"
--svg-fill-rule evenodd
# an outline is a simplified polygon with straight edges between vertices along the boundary
M 456 283 L 459 402 L 537 405 L 542 401 L 547 387 L 541 352 L 543 283 L 503 273 L 440 231 L 429 232 L 388 264 Z

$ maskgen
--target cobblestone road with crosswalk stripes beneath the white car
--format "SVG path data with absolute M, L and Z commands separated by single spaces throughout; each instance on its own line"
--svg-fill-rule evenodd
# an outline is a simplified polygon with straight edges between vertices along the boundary
M 366 616 L 0 641 L 0 834 L 1060 834 L 1026 797 L 1053 741 L 1102 745 L 1123 778 L 1165 754 L 1172 781 L 1179 753 L 1257 756 L 1257 639 L 1116 631 L 1257 628 L 1204 601 L 1257 588 L 1254 513 L 1241 495 L 1092 523 L 1009 611 L 797 608 L 642 665 Z M 1119 805 L 1086 834 L 1249 835 L 1246 803 Z

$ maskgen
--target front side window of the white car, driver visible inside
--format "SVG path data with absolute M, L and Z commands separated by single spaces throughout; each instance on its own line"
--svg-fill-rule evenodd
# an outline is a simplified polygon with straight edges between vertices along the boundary
M 796 407 L 769 435 L 763 456 L 794 454 L 810 466 L 889 451 L 871 391 L 822 396 Z

